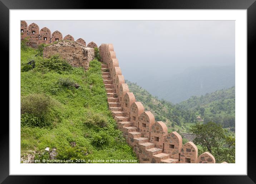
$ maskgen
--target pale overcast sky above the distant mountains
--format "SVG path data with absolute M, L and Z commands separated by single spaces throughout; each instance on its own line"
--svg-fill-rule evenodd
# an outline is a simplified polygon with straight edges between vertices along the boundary
M 122 73 L 132 82 L 169 78 L 192 66 L 235 65 L 235 21 L 26 22 L 87 44 L 113 44 Z

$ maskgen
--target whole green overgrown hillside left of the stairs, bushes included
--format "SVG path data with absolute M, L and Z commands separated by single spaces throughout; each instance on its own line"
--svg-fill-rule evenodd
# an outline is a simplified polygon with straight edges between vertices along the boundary
M 21 43 L 21 158 L 49 159 L 49 147 L 59 160 L 137 160 L 108 110 L 101 63 L 84 71 L 58 55 L 44 59 L 41 47 Z

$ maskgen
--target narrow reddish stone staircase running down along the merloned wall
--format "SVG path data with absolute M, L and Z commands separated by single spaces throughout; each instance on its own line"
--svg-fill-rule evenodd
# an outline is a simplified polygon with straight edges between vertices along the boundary
M 108 97 L 109 110 L 112 112 L 113 118 L 118 123 L 118 129 L 123 132 L 124 137 L 129 145 L 134 150 L 139 149 L 137 157 L 141 163 L 178 163 L 177 159 L 171 158 L 171 155 L 164 153 L 163 149 L 157 148 L 152 142 L 149 142 L 149 138 L 143 137 L 143 133 L 138 132 L 138 128 L 134 126 L 133 122 L 129 121 L 129 117 L 126 116 L 123 111 L 119 98 L 114 89 L 113 81 L 108 71 L 108 66 L 102 64 L 102 78 L 105 85 L 105 89 Z M 136 151 L 135 151 L 136 152 Z M 145 159 L 143 159 L 145 155 Z M 149 159 L 152 158 L 152 159 Z

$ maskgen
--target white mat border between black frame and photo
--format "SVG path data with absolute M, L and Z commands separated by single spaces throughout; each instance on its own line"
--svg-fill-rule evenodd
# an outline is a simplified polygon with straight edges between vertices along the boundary
M 33 16 L 31 16 L 33 15 Z M 91 16 L 92 15 L 92 16 Z M 235 20 L 235 164 L 20 164 L 20 20 Z M 104 27 L 102 28 L 104 29 Z M 247 174 L 247 10 L 10 10 L 10 175 Z

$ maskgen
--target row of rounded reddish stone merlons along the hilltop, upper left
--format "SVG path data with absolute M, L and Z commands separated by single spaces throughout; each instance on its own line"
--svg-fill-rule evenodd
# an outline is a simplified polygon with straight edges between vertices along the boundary
M 26 21 L 20 21 L 20 39 L 27 39 L 27 44 L 31 47 L 36 48 L 40 44 L 51 44 L 55 41 L 61 40 L 75 41 L 74 37 L 71 35 L 66 35 L 63 38 L 63 35 L 58 30 L 54 31 L 52 34 L 50 29 L 47 27 L 42 28 L 40 31 L 39 30 L 39 26 L 35 23 L 28 25 Z M 79 38 L 76 42 L 86 46 L 86 42 L 82 38 Z M 94 42 L 90 42 L 87 47 L 94 48 L 98 46 Z

